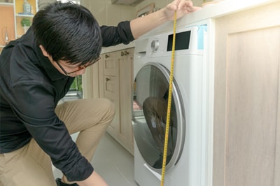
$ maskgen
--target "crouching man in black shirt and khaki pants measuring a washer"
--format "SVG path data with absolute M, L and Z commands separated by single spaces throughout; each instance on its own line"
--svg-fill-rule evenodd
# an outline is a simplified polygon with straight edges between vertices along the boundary
M 57 104 L 75 76 L 99 59 L 102 45 L 130 43 L 199 8 L 175 0 L 118 27 L 99 27 L 89 10 L 55 2 L 34 16 L 27 34 L 0 56 L 0 185 L 107 185 L 90 161 L 114 115 L 106 99 Z M 80 131 L 76 143 L 70 134 Z M 53 178 L 54 164 L 64 173 Z

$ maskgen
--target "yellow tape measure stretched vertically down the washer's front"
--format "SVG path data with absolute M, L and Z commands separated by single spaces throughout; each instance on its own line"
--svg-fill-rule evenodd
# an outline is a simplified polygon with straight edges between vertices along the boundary
M 161 186 L 165 185 L 165 164 L 167 161 L 167 145 L 168 145 L 168 134 L 169 134 L 169 123 L 171 114 L 171 102 L 172 102 L 172 82 L 173 82 L 173 72 L 174 72 L 174 54 L 175 54 L 175 39 L 176 39 L 176 20 L 177 12 L 174 13 L 174 27 L 173 27 L 173 41 L 172 41 L 172 59 L 169 77 L 169 92 L 168 92 L 168 105 L 167 105 L 167 123 L 165 129 L 165 148 L 163 151 L 163 161 L 162 161 L 162 178 Z

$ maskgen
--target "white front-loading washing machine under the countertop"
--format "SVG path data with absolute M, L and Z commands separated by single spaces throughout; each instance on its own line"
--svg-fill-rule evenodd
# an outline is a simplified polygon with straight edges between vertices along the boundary
M 166 186 L 211 185 L 214 63 L 207 48 L 210 24 L 209 20 L 190 25 L 179 22 L 176 28 L 167 148 L 173 24 L 135 41 L 134 179 L 141 186 L 160 185 L 164 153 Z

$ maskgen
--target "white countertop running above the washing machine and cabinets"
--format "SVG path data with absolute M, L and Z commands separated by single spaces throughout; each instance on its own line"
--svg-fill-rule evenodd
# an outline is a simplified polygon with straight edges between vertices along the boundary
M 200 22 L 207 19 L 215 19 L 217 17 L 230 15 L 232 13 L 237 13 L 242 10 L 248 10 L 250 8 L 255 8 L 269 3 L 274 3 L 276 1 L 279 0 L 246 0 L 246 1 L 221 0 L 218 3 L 214 3 L 213 5 L 209 5 L 209 6 L 204 6 L 201 10 L 197 10 L 194 13 L 190 13 L 188 15 L 181 17 L 181 19 L 177 21 L 177 27 L 195 24 L 196 22 Z M 151 34 L 162 33 L 164 31 L 169 31 L 170 28 L 173 28 L 172 21 L 162 24 L 160 27 L 157 27 L 152 31 L 149 31 L 147 34 L 151 35 Z M 146 34 L 144 34 L 141 37 L 145 37 L 145 36 Z M 133 48 L 134 45 L 135 43 L 133 41 L 128 45 L 120 44 L 108 48 L 102 48 L 102 53 L 124 50 L 126 48 Z

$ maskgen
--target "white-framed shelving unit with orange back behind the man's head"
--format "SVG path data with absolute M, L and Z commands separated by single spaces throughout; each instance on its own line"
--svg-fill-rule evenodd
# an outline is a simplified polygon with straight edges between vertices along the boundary
M 20 38 L 25 33 L 25 28 L 22 27 L 22 20 L 32 21 L 32 17 L 38 10 L 37 0 L 29 0 L 31 6 L 30 13 L 24 13 L 23 10 L 24 0 L 0 0 L 0 17 L 1 19 L 0 31 L 0 52 L 8 41 Z

